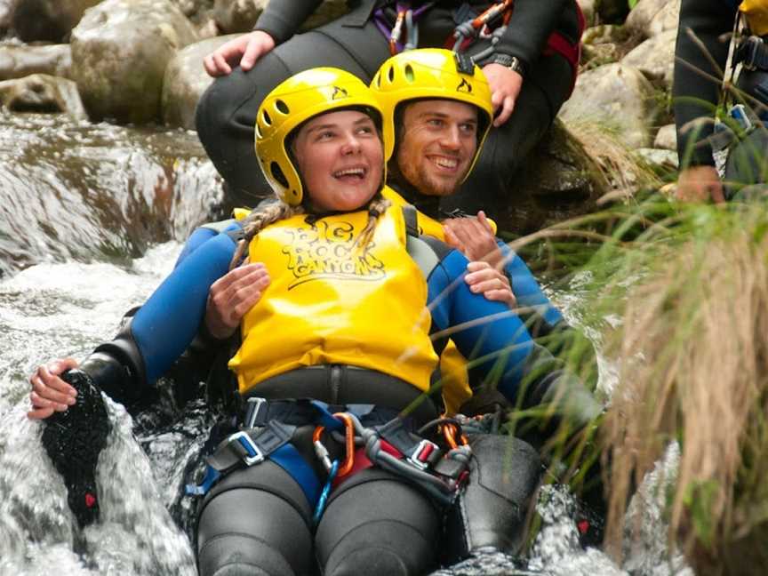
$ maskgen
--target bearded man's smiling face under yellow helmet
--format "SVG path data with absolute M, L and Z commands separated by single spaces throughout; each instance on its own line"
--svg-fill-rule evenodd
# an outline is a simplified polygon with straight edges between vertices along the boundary
M 455 100 L 407 104 L 396 161 L 406 180 L 428 196 L 459 188 L 477 149 L 477 109 Z

